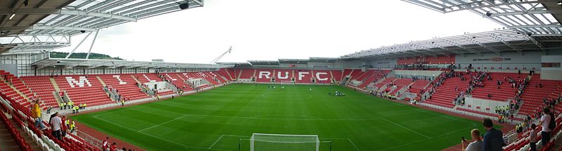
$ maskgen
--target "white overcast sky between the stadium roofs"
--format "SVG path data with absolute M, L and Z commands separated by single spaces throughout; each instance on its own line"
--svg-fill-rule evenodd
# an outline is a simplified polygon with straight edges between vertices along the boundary
M 438 13 L 399 0 L 206 0 L 205 6 L 102 29 L 93 53 L 172 63 L 337 58 L 408 41 L 500 28 L 469 11 Z M 86 34 L 72 37 L 77 44 Z M 91 34 L 93 37 L 93 34 Z M 77 52 L 87 52 L 91 38 Z M 55 51 L 70 52 L 73 46 Z

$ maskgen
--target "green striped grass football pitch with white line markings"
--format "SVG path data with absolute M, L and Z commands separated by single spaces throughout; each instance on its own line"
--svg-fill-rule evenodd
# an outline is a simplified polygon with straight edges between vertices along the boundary
M 147 150 L 249 150 L 252 133 L 318 135 L 331 142 L 320 150 L 441 150 L 483 129 L 343 86 L 275 86 L 231 84 L 72 119 Z M 328 95 L 334 91 L 346 96 Z

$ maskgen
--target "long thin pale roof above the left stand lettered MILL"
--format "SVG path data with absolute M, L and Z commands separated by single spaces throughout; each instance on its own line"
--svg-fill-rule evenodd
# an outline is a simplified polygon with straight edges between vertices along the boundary
M 47 58 L 32 63 L 37 69 L 44 67 L 66 68 L 141 68 L 141 69 L 212 69 L 233 67 L 234 65 L 210 65 L 197 63 L 164 63 L 129 60 L 98 60 L 98 59 L 60 59 Z

